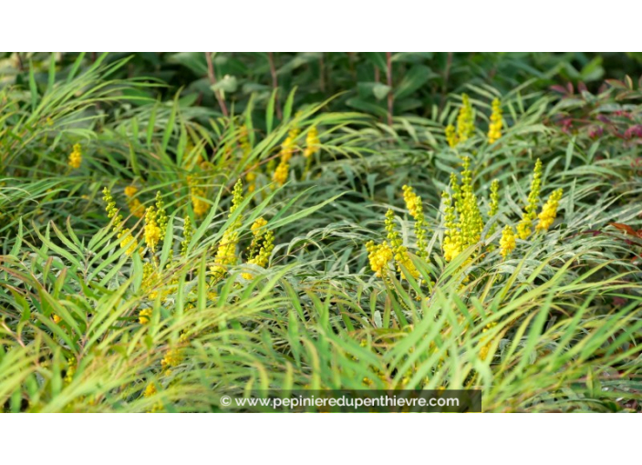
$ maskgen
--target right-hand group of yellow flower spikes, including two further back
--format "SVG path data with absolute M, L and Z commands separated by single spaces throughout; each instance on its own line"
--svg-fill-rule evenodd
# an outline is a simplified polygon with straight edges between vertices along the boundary
M 441 192 L 440 220 L 435 218 L 430 228 L 421 198 L 412 187 L 404 185 L 402 196 L 414 223 L 414 243 L 405 244 L 401 240 L 396 230 L 394 213 L 388 209 L 385 221 L 386 239 L 381 243 L 370 241 L 366 244 L 370 268 L 385 282 L 389 282 L 392 275 L 403 278 L 402 272 L 418 279 L 419 271 L 410 260 L 409 250 L 414 251 L 420 259 L 429 261 L 428 243 L 438 242 L 439 239 L 441 257 L 445 263 L 452 262 L 465 251 L 471 251 L 461 264 L 461 273 L 464 281 L 467 281 L 469 273 L 466 270 L 477 258 L 496 253 L 496 256 L 505 260 L 517 248 L 518 240 L 528 241 L 533 234 L 546 233 L 553 226 L 563 191 L 553 191 L 542 205 L 543 165 L 539 159 L 535 162 L 530 191 L 518 222 L 510 222 L 511 215 L 506 213 L 508 209 L 502 208 L 500 181 L 491 182 L 489 198 L 486 202 L 480 202 L 473 181 L 475 175 L 471 169 L 471 156 L 459 155 L 460 144 L 470 140 L 475 133 L 474 120 L 475 110 L 471 105 L 471 99 L 464 94 L 457 116 L 457 126 L 449 125 L 445 129 L 450 150 L 461 160 L 461 171 L 459 175 L 454 172 L 450 174 L 448 189 Z M 495 98 L 492 101 L 487 134 L 489 144 L 501 140 L 503 127 L 501 100 Z M 500 222 L 501 212 L 502 218 L 506 221 L 504 224 Z M 499 237 L 496 234 L 498 228 L 501 230 Z M 438 237 L 429 237 L 430 232 Z M 430 288 L 430 281 L 425 284 Z

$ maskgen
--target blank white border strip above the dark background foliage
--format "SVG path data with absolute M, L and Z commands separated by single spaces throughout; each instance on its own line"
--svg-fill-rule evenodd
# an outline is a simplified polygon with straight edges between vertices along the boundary
M 4 2 L 7 49 L 507 51 L 636 47 L 642 2 Z

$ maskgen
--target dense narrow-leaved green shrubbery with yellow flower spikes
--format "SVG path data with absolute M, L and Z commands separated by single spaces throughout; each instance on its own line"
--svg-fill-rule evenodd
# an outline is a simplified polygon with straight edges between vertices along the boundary
M 265 82 L 285 57 L 289 94 Z M 3 408 L 401 387 L 637 408 L 638 83 L 590 93 L 602 57 L 548 91 L 569 57 L 394 54 L 388 88 L 385 57 L 7 57 Z M 207 78 L 172 98 L 182 67 Z

